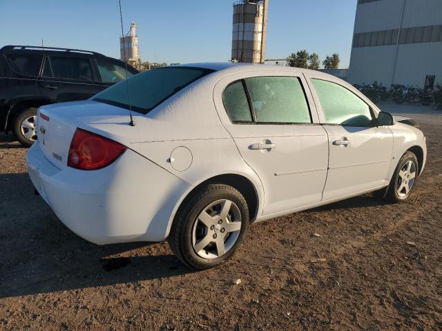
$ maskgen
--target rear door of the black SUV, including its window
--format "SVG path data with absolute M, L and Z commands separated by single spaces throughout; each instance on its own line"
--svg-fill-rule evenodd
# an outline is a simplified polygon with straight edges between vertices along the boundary
M 90 57 L 79 54 L 46 56 L 39 88 L 54 103 L 86 100 L 103 90 Z

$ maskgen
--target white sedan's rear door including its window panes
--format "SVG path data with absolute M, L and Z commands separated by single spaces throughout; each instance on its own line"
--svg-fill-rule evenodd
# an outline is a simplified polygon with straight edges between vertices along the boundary
M 262 182 L 263 214 L 317 203 L 327 177 L 328 141 L 305 77 L 259 74 L 235 74 L 215 86 L 220 119 Z

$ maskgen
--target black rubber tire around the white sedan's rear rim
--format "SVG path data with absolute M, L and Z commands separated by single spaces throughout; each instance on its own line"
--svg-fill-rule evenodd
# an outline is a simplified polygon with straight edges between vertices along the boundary
M 193 248 L 193 227 L 197 222 L 198 215 L 211 203 L 221 199 L 228 199 L 238 207 L 241 218 L 239 235 L 227 252 L 213 259 L 204 259 Z M 226 262 L 235 254 L 242 243 L 248 224 L 249 208 L 247 208 L 247 202 L 242 194 L 229 185 L 209 184 L 193 192 L 191 197 L 187 198 L 177 211 L 168 238 L 169 245 L 175 256 L 189 267 L 198 270 L 214 268 Z M 209 228 L 206 228 L 206 230 L 209 233 Z M 210 229 L 210 231 L 215 230 Z

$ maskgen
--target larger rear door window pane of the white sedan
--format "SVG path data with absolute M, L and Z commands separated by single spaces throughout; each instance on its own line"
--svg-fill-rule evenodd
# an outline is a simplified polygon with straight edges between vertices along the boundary
M 245 81 L 258 123 L 311 123 L 298 78 L 253 77 Z

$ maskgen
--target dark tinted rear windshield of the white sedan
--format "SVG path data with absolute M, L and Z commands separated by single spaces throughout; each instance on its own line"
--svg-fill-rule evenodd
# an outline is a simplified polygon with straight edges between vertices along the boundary
M 107 88 L 93 100 L 129 109 L 128 82 L 132 110 L 147 114 L 182 88 L 211 72 L 213 70 L 189 67 L 147 70 Z

